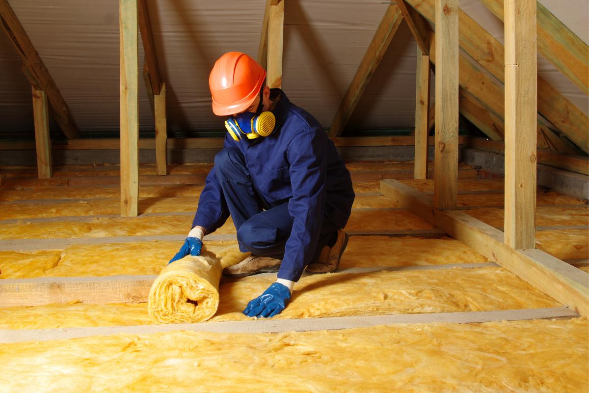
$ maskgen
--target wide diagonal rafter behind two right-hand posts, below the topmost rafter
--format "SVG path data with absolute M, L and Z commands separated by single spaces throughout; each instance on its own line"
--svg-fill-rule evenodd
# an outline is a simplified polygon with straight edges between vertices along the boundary
M 434 21 L 435 0 L 406 0 L 428 21 Z M 465 12 L 459 10 L 459 40 L 460 47 L 478 64 L 491 72 L 499 81 L 504 82 L 504 47 L 491 34 L 482 28 Z M 431 38 L 430 38 L 431 45 Z M 430 50 L 430 57 L 432 53 Z M 468 63 L 468 61 L 467 61 Z M 460 73 L 463 68 L 461 62 Z M 467 65 L 467 67 L 469 67 Z M 472 65 L 470 66 L 472 67 Z M 503 95 L 501 93 L 501 95 Z M 478 98 L 478 97 L 477 97 Z M 486 104 L 493 104 L 478 98 Z M 499 106 L 503 106 L 501 101 Z M 495 113 L 501 113 L 495 111 Z M 567 100 L 554 87 L 542 78 L 538 77 L 538 113 L 544 116 L 550 123 L 560 130 L 571 141 L 577 144 L 586 153 L 589 152 L 589 118 L 573 103 Z

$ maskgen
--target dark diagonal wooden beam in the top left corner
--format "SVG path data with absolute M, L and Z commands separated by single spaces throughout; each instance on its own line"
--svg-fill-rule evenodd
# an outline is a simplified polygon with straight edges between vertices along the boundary
M 70 108 L 55 85 L 51 74 L 41 60 L 37 49 L 31 42 L 21 22 L 16 18 L 8 0 L 0 0 L 0 26 L 14 45 L 22 59 L 25 76 L 35 90 L 45 91 L 47 100 L 53 110 L 55 122 L 68 139 L 81 137 L 78 127 L 71 117 Z

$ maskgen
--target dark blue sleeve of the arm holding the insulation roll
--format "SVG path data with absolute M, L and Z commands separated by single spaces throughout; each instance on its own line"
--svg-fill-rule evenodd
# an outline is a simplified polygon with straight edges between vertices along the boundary
M 229 133 L 225 136 L 223 148 L 233 146 L 233 140 L 230 140 Z M 201 226 L 206 233 L 215 232 L 229 218 L 229 208 L 225 202 L 223 190 L 217 181 L 216 169 L 213 166 L 204 182 L 203 192 L 200 193 L 198 207 L 192 227 Z

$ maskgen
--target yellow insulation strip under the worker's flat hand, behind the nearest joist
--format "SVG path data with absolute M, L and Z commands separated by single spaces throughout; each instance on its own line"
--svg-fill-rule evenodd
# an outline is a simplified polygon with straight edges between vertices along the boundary
M 219 309 L 210 321 L 249 319 L 241 311 L 275 280 L 274 275 L 221 280 Z M 289 306 L 274 318 L 489 311 L 558 305 L 556 300 L 501 267 L 332 273 L 303 276 L 294 285 Z M 101 313 L 108 314 L 104 321 Z M 0 329 L 141 325 L 148 323 L 145 316 L 146 303 L 100 305 L 98 308 L 87 304 L 10 307 L 0 308 Z

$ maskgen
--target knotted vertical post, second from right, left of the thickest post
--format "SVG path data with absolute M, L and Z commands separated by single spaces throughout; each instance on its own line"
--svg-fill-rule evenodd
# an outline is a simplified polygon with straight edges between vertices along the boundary
M 434 206 L 458 200 L 458 0 L 436 0 Z

